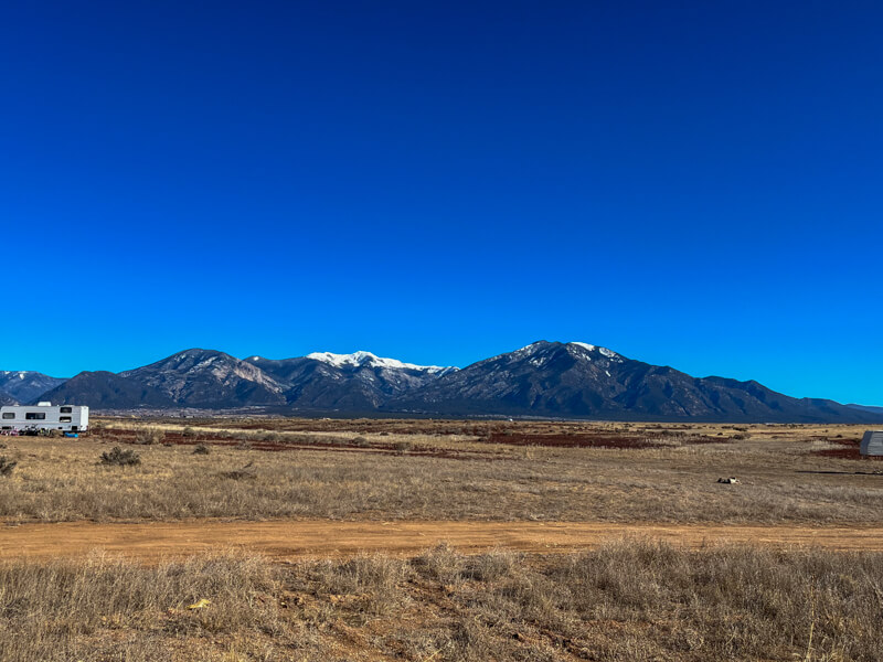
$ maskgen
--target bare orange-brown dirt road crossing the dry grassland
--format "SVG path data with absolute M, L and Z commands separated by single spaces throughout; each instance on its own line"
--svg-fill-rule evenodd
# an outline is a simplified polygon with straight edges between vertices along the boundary
M 443 541 L 461 552 L 535 553 L 595 547 L 627 534 L 698 547 L 715 542 L 883 551 L 883 527 L 608 524 L 596 522 L 152 522 L 0 525 L 0 558 L 81 556 L 104 549 L 147 563 L 223 548 L 275 558 L 357 552 L 414 554 Z

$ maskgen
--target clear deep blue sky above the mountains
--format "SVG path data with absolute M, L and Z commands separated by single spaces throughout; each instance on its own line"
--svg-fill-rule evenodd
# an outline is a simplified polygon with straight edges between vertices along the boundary
M 870 1 L 4 2 L 0 367 L 582 340 L 883 405 L 881 34 Z

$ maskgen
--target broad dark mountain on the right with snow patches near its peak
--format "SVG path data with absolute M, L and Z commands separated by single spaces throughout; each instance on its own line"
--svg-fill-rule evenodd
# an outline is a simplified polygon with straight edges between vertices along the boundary
M 540 341 L 439 377 L 389 410 L 631 419 L 870 420 L 830 401 L 797 399 L 756 382 L 692 377 L 584 343 Z

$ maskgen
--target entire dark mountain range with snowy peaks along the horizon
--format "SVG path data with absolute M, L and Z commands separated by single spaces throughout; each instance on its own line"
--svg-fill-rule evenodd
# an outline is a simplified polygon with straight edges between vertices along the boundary
M 370 352 L 236 359 L 193 349 L 121 373 L 70 380 L 0 373 L 0 404 L 51 401 L 120 409 L 534 416 L 608 420 L 883 421 L 883 409 L 795 398 L 754 381 L 693 377 L 582 342 L 539 341 L 462 370 Z

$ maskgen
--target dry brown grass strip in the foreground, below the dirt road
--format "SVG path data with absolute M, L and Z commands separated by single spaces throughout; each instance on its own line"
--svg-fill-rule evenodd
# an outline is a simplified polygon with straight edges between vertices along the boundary
M 550 557 L 96 556 L 0 564 L 0 587 L 8 662 L 883 659 L 881 554 L 624 540 Z

